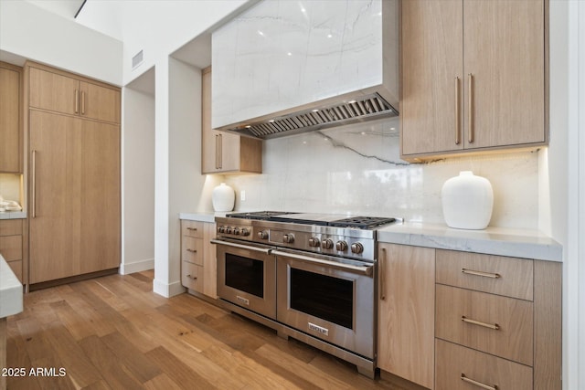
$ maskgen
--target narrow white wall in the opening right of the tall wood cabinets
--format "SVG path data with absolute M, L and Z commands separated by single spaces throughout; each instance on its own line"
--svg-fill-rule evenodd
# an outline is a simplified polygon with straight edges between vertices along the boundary
M 151 74 L 154 69 L 122 90 L 125 102 L 122 115 L 122 274 L 154 268 L 154 77 Z M 148 85 L 151 83 L 152 86 Z

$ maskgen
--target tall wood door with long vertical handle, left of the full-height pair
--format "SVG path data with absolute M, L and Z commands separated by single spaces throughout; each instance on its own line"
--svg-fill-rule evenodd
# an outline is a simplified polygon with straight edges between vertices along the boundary
M 30 111 L 30 283 L 80 273 L 80 120 Z

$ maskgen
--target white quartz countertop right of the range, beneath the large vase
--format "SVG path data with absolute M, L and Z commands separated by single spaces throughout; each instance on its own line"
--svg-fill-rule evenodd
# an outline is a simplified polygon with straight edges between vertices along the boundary
M 505 227 L 463 230 L 412 222 L 379 229 L 378 242 L 548 261 L 562 261 L 563 250 L 557 241 L 537 230 Z

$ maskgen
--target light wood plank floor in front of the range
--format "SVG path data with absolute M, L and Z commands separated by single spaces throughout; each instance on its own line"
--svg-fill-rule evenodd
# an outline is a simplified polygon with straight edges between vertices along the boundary
M 146 271 L 27 294 L 25 311 L 7 321 L 7 364 L 27 374 L 8 377 L 7 388 L 410 388 L 368 379 L 352 364 L 188 294 L 165 299 L 152 292 L 152 280 Z M 37 367 L 48 370 L 31 376 Z

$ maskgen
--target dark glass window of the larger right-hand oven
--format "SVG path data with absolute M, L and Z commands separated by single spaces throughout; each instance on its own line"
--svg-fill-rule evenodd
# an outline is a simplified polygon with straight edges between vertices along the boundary
M 291 308 L 353 329 L 354 282 L 291 269 Z

